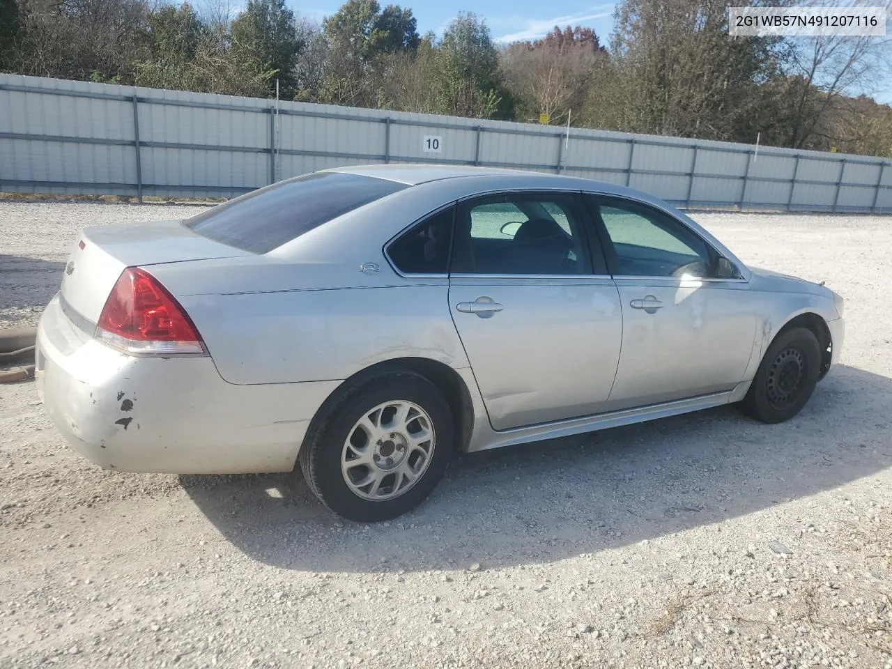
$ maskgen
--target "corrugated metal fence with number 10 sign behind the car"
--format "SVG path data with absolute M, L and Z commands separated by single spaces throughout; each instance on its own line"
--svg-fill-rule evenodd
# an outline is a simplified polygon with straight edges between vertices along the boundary
M 892 161 L 0 74 L 0 191 L 231 196 L 315 169 L 536 169 L 682 207 L 892 210 Z

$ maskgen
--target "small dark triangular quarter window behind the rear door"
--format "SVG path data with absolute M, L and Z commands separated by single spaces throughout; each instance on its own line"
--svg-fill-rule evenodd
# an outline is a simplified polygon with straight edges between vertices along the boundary
M 455 207 L 438 211 L 411 227 L 387 247 L 394 267 L 403 274 L 446 274 Z

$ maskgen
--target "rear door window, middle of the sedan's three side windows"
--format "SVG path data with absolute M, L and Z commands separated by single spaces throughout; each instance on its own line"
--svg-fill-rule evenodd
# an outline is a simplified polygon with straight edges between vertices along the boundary
M 458 205 L 452 273 L 567 275 L 588 271 L 570 194 L 504 194 Z

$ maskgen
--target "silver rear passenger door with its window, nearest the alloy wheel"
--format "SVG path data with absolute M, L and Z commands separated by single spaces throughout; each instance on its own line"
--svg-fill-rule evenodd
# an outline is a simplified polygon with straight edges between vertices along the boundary
M 458 203 L 452 319 L 496 430 L 597 413 L 622 337 L 619 294 L 578 194 Z

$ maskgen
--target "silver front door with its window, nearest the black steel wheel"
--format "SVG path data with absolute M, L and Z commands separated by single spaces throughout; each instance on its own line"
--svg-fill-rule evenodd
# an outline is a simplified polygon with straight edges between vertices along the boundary
M 590 204 L 623 305 L 609 409 L 731 390 L 755 341 L 747 282 L 714 277 L 717 252 L 665 211 L 617 197 Z

